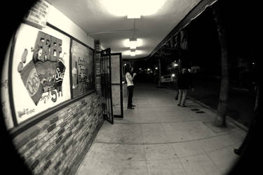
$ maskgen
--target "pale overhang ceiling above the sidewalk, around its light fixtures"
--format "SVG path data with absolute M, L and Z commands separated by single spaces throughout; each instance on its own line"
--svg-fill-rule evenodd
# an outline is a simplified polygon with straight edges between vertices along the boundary
M 114 2 L 126 2 L 126 0 L 48 1 L 79 25 L 90 37 L 99 39 L 103 48 L 111 48 L 112 53 L 121 52 L 124 59 L 131 59 L 149 56 L 151 51 L 201 0 L 140 0 L 138 8 L 142 6 L 145 11 L 151 10 L 150 4 L 156 3 L 154 7 L 156 11 L 142 14 L 138 19 L 127 19 L 125 8 L 129 7 L 128 5 L 124 7 L 121 4 L 114 5 Z M 149 6 L 144 6 L 143 1 L 149 2 Z M 130 56 L 128 47 L 128 39 L 133 37 L 133 34 L 141 41 L 140 46 L 136 48 L 138 52 L 136 56 Z

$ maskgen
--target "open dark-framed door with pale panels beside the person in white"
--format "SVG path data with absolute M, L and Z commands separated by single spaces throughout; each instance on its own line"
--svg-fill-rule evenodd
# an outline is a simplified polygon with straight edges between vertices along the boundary
M 121 53 L 111 54 L 112 67 L 112 107 L 116 118 L 123 118 L 123 87 Z

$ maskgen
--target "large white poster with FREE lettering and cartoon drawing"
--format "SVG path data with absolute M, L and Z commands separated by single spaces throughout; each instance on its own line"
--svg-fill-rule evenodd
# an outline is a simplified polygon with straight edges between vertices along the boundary
M 50 27 L 20 25 L 12 58 L 18 124 L 70 99 L 69 44 L 69 37 Z

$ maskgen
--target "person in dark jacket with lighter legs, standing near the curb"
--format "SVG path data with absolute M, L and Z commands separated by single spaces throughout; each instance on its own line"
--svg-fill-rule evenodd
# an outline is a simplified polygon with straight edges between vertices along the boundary
M 187 99 L 188 90 L 192 89 L 192 91 L 194 91 L 191 74 L 187 72 L 186 68 L 182 68 L 182 74 L 178 77 L 177 85 L 179 89 L 179 99 L 177 105 L 186 107 L 185 101 Z

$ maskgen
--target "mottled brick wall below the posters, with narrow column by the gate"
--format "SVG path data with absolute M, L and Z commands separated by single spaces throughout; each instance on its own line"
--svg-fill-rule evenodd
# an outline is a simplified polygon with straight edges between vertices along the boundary
M 100 48 L 100 44 L 96 48 Z M 13 139 L 33 174 L 74 174 L 100 129 L 100 61 L 95 56 L 97 92 L 81 98 Z

